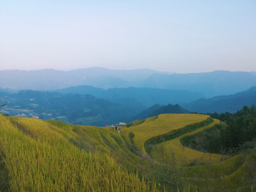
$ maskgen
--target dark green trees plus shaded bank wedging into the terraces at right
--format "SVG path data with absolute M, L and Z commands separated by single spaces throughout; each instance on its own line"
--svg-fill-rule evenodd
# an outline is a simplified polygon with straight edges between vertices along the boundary
M 188 147 L 203 152 L 234 154 L 256 147 L 256 107 L 254 105 L 236 113 L 208 113 L 224 123 L 189 136 L 184 140 Z

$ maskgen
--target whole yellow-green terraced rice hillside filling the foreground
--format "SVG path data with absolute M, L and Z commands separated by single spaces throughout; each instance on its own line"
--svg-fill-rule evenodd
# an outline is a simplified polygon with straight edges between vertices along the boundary
M 159 115 L 119 134 L 0 115 L 0 191 L 253 191 L 255 150 L 230 157 L 180 143 L 219 123 L 207 115 Z M 145 143 L 156 138 L 166 140 L 147 154 Z

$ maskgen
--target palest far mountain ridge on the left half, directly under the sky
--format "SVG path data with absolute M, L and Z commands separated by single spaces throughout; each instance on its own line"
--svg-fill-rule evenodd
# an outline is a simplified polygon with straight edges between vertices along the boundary
M 62 71 L 44 70 L 0 70 L 0 87 L 16 90 L 54 90 L 77 85 L 91 85 L 99 88 L 132 86 L 152 74 L 161 74 L 156 70 L 110 70 L 92 67 Z

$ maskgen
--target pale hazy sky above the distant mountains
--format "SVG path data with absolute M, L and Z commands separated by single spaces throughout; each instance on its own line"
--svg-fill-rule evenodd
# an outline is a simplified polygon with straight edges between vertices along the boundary
M 0 70 L 256 71 L 256 1 L 0 0 Z

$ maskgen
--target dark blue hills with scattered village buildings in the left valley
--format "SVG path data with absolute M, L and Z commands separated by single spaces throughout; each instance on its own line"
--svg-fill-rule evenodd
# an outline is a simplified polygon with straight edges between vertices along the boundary
M 98 125 L 116 124 L 135 114 L 132 108 L 97 99 L 92 95 L 22 91 L 0 92 L 1 103 L 6 106 L 0 113 L 28 116 L 44 120 L 61 120 L 69 124 Z

